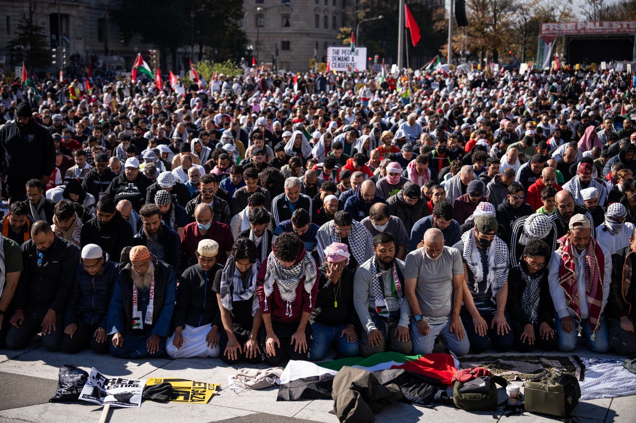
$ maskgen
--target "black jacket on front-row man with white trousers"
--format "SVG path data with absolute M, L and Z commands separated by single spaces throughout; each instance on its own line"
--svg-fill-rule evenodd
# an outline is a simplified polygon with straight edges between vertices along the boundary
M 195 328 L 216 323 L 220 326 L 219 302 L 212 290 L 216 272 L 223 266 L 216 263 L 207 272 L 195 264 L 188 267 L 179 279 L 177 304 L 174 306 L 174 327 L 190 325 Z M 216 322 L 215 322 L 216 320 Z

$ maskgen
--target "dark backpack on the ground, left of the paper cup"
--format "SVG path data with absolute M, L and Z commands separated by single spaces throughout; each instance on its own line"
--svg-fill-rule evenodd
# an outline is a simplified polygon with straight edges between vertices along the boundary
M 481 372 L 475 372 L 481 370 Z M 459 372 L 458 372 L 459 373 Z M 462 378 L 455 380 L 453 387 L 453 403 L 462 410 L 495 410 L 499 406 L 497 401 L 497 385 L 506 387 L 508 381 L 501 376 L 494 376 L 483 368 L 474 368 L 471 373 L 486 374 L 471 380 Z M 457 375 L 457 373 L 455 373 Z M 455 379 L 455 377 L 453 377 Z M 458 378 L 459 379 L 459 378 Z

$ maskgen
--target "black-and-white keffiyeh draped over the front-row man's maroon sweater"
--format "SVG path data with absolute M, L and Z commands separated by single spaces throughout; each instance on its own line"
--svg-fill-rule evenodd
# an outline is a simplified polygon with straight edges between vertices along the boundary
M 316 269 L 316 262 L 311 255 L 305 252 L 305 257 L 303 257 L 300 262 L 294 264 L 292 267 L 285 267 L 278 258 L 270 254 L 267 257 L 266 266 L 265 280 L 263 281 L 265 298 L 272 295 L 274 286 L 278 286 L 280 298 L 287 303 L 285 315 L 291 316 L 291 303 L 296 299 L 296 288 L 304 277 L 305 291 L 310 294 L 309 306 L 313 307 L 311 292 L 318 271 Z M 265 311 L 266 310 L 267 302 L 265 302 Z

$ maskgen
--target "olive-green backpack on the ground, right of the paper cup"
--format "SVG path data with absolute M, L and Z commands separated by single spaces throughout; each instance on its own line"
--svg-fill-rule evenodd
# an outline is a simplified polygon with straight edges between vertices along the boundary
M 546 370 L 525 382 L 523 397 L 529 412 L 567 417 L 579 403 L 581 387 L 572 373 Z

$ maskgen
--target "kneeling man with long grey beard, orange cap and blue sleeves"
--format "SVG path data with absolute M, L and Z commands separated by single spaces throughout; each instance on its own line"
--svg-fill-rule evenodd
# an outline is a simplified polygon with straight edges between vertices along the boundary
M 131 248 L 128 257 L 130 263 L 121 268 L 108 313 L 111 354 L 119 358 L 163 357 L 174 310 L 174 271 L 144 245 Z

